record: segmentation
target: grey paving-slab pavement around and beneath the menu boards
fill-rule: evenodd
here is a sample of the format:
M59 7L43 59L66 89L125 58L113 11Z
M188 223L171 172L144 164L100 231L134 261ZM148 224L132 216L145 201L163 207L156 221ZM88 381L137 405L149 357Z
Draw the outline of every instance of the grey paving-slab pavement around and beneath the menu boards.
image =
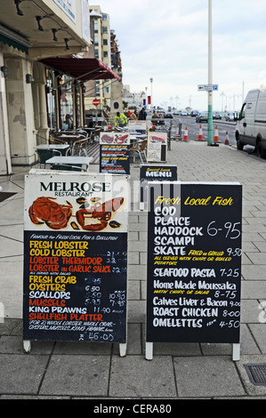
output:
M163 404L177 399L266 399L244 365L266 367L266 161L206 141L172 141L168 164L177 165L179 181L239 181L243 185L243 256L240 360L230 344L155 343L145 358L147 213L129 213L128 337L125 357L118 345L97 342L22 344L22 269L24 174L14 167L0 177L0 399L112 400ZM99 171L99 166L92 171ZM139 164L131 165L131 181ZM144 401L143 401L144 402ZM162 401L159 402L162 404ZM104 411L101 411L104 412ZM133 411L137 412L137 411Z

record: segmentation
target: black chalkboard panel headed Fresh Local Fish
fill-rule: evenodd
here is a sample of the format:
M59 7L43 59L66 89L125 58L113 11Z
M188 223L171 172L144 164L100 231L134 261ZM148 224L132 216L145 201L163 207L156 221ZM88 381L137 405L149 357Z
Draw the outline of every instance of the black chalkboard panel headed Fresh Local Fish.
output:
M149 183L147 342L239 342L242 188Z

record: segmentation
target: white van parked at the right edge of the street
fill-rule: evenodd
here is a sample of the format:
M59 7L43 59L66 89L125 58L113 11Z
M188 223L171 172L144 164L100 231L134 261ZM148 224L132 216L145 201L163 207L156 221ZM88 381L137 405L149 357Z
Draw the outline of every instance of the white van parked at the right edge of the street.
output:
M238 149L253 145L259 157L266 158L266 88L246 95L236 129Z

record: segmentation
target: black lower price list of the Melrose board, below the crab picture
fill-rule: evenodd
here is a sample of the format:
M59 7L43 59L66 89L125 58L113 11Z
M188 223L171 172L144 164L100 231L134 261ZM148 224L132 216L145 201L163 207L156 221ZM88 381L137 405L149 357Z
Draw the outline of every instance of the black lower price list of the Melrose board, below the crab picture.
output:
M126 234L24 234L24 339L125 342Z

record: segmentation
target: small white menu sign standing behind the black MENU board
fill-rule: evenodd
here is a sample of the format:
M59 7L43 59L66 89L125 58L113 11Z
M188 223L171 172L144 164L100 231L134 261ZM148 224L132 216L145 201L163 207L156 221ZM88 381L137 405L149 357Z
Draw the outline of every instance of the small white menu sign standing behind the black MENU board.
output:
M167 159L167 133L149 132L147 159L150 163L165 162Z

